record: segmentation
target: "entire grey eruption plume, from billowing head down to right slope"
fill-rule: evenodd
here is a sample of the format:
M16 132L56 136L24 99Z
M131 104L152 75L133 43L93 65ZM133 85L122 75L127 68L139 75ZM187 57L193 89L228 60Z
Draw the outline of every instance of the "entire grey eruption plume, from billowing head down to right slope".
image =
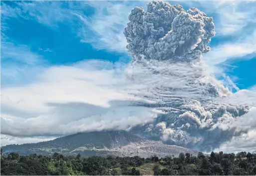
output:
M197 8L186 11L181 5L153 1L147 10L132 9L124 31L132 56L127 76L133 86L128 87L133 95L152 101L140 106L162 113L131 132L206 152L232 140L253 139L255 93L232 93L203 62L214 29L213 17ZM251 142L253 150L256 140Z

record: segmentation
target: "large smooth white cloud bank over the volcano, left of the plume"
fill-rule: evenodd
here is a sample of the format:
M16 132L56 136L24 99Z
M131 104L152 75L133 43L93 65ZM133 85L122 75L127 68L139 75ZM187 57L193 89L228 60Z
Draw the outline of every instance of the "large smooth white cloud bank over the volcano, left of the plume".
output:
M156 118L152 108L120 88L123 77L111 63L90 60L43 70L33 83L1 89L1 133L67 135L127 129Z

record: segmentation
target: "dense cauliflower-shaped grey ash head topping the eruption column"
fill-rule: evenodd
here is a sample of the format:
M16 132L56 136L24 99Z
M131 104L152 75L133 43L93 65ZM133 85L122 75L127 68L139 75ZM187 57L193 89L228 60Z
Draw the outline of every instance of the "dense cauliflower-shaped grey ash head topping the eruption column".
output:
M215 35L213 17L197 8L185 11L181 5L153 1L147 11L135 7L125 28L127 49L133 58L166 60L194 51L210 51Z

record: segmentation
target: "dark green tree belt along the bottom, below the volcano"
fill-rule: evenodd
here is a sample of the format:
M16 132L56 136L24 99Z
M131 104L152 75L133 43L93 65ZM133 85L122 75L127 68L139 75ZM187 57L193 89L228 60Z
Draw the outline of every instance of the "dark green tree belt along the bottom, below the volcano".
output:
M140 157L88 157L81 155L63 156L55 153L51 157L19 156L9 153L2 156L1 175L256 175L256 154L241 152L224 154L223 152L205 156L180 154L158 158Z

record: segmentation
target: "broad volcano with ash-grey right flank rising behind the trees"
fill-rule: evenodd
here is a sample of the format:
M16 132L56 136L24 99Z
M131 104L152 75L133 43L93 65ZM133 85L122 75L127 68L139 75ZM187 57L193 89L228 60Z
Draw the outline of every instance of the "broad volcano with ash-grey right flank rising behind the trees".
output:
M148 140L125 131L101 131L77 133L51 141L35 144L8 145L2 147L3 154L17 152L20 155L52 155L55 152L62 155L82 156L140 156L164 157L178 156L180 153L197 155L198 151L161 142Z

